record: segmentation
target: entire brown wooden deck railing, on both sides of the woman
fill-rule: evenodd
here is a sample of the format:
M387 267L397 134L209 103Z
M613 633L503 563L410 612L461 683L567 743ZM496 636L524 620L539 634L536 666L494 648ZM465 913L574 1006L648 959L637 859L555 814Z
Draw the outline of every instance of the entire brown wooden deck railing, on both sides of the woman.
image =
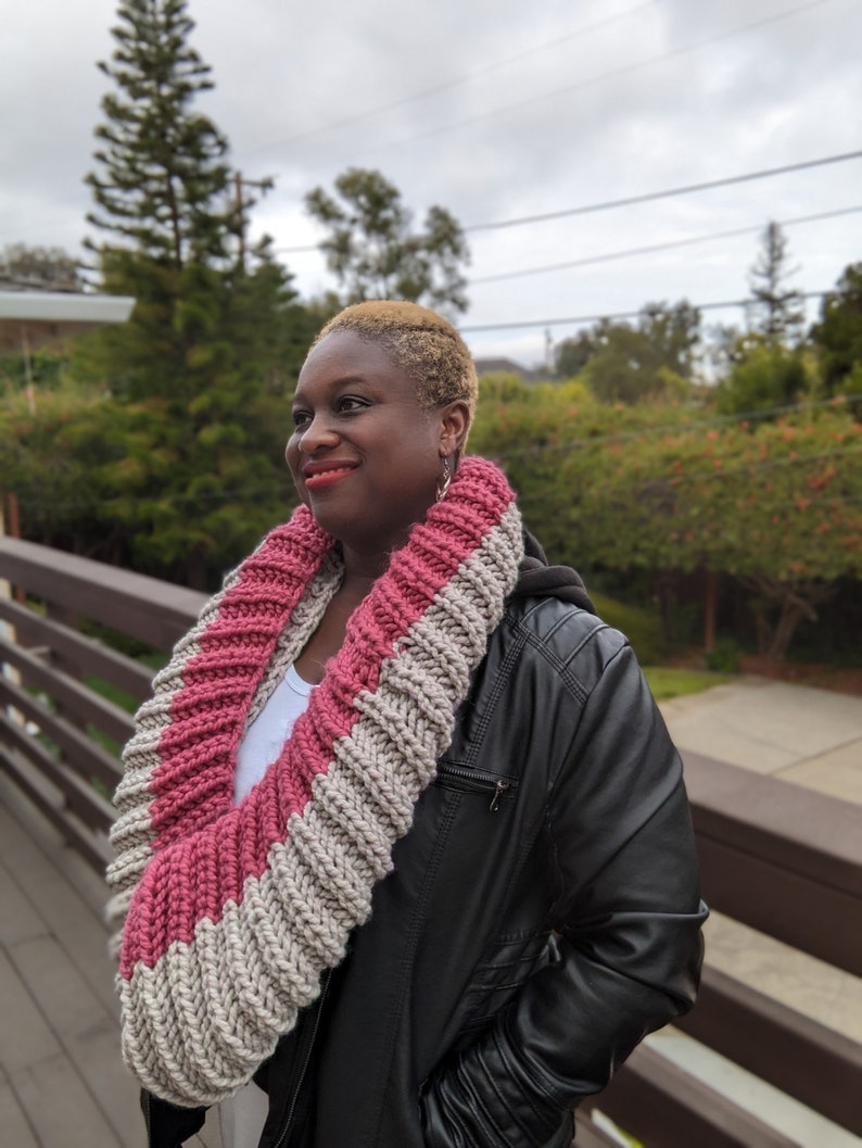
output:
M109 794L129 713L85 682L110 681L135 699L152 672L80 633L94 620L169 651L203 596L154 579L0 538L0 768L100 871L108 859ZM101 737L101 740L100 740ZM704 892L710 906L794 948L862 972L862 810L857 806L685 754ZM794 1100L862 1134L862 1052L832 1029L708 963L698 1004L678 1027ZM645 1148L809 1148L642 1046L584 1106L577 1143L612 1141L589 1119L598 1107Z

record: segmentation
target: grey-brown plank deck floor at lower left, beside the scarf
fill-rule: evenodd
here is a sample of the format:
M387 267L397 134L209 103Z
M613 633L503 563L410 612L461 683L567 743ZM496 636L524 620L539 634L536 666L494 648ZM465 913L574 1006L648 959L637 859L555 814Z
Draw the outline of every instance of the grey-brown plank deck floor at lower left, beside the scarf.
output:
M0 1146L145 1148L99 876L0 776ZM210 1117L196 1148L220 1148Z

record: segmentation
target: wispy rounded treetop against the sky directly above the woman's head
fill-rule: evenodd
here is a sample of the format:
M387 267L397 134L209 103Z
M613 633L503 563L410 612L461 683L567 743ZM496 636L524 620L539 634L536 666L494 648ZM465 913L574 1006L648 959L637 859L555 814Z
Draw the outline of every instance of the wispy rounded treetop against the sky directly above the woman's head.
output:
M335 192L316 187L305 207L328 232L320 248L349 303L405 298L444 311L467 310L467 242L444 208L429 208L424 227L416 230L398 188L365 168L342 172Z

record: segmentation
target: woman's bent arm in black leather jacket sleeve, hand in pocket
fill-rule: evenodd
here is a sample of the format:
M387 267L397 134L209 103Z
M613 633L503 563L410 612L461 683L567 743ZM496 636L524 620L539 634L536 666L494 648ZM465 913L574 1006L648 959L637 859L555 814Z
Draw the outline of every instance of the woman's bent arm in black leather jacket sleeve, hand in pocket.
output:
M693 1002L706 912L681 762L628 646L583 706L549 819L560 960L426 1083L429 1148L546 1143Z

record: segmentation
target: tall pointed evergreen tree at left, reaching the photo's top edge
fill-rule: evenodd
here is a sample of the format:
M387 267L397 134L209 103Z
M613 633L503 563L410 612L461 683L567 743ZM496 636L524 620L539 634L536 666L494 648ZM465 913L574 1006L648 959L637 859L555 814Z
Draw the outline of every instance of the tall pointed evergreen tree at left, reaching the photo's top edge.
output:
M265 242L239 256L249 204L235 204L227 141L196 109L213 85L193 28L185 0L118 8L87 183L103 289L137 304L81 363L122 408L116 428L93 425L127 560L203 587L284 514L284 389L308 324Z

